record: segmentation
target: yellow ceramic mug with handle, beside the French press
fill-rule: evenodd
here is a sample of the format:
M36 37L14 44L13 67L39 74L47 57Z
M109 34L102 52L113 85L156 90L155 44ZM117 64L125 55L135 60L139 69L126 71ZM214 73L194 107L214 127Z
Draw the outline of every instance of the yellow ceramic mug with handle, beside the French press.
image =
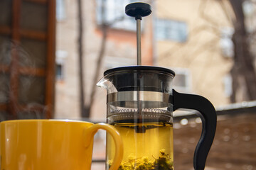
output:
M93 136L109 132L116 145L112 170L122 161L122 140L111 125L73 120L9 120L0 123L1 170L89 170Z

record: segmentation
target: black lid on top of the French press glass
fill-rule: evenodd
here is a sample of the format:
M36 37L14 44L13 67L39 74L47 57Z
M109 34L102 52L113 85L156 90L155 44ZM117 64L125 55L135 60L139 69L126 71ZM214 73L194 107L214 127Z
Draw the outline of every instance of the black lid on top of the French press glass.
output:
M129 66L109 69L105 78L117 91L158 91L169 94L169 84L175 73L171 69L150 66Z

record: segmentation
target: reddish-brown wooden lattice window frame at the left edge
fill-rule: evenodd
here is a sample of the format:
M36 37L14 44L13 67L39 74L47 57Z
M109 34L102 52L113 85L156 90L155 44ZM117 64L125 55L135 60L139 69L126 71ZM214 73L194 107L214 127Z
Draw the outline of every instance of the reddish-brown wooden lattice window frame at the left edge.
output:
M46 30L35 30L33 28L21 28L22 3L31 3L38 6L46 6L48 13L46 16ZM10 75L10 89L8 103L0 103L0 112L6 113L7 119L17 119L18 113L26 114L31 111L40 113L43 118L53 118L54 110L54 83L55 77L55 0L12 0L11 1L11 26L0 26L0 35L11 37L11 41L20 45L22 38L46 42L46 68L41 67L21 67L18 63L18 52L13 48L11 53L11 63L9 65L0 63L0 73ZM31 106L29 103L20 103L19 78L21 76L33 76L45 79L45 99L43 106Z

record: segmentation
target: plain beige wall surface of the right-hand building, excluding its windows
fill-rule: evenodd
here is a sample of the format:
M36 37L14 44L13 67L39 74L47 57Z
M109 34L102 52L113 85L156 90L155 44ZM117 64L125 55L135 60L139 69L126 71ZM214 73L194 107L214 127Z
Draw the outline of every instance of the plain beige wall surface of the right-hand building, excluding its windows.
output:
M157 17L183 21L188 25L186 42L157 42L158 64L188 68L192 94L208 98L215 106L229 103L224 94L223 77L232 66L232 58L220 52L220 29L230 23L218 1L158 0ZM174 78L175 79L175 78Z

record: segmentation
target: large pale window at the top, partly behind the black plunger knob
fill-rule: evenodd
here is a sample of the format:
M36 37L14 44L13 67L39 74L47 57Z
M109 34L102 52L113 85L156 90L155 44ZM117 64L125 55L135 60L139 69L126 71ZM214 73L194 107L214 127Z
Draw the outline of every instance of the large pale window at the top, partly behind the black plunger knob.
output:
M111 28L135 31L135 19L124 13L125 6L133 2L135 2L135 0L97 0L97 24L102 25L102 23L111 23Z

